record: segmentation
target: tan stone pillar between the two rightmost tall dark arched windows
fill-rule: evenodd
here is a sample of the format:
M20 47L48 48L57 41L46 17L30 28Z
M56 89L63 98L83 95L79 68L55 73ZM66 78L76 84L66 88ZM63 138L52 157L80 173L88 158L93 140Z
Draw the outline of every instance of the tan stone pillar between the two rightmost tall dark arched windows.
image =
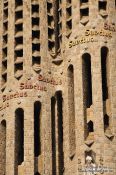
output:
M96 142L96 162L104 154L104 124L103 124L103 100L102 100L102 75L101 75L101 48L99 45L93 47L91 54L92 70L92 95L94 114L94 133ZM97 50L97 51L96 51Z

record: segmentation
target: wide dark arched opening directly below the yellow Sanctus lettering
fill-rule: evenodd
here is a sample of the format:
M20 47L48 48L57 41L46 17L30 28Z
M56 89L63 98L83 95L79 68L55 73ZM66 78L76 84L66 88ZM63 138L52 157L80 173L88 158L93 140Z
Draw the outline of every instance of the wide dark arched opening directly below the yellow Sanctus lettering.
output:
M91 56L86 53L82 56L82 59L84 105L89 108L92 105Z

